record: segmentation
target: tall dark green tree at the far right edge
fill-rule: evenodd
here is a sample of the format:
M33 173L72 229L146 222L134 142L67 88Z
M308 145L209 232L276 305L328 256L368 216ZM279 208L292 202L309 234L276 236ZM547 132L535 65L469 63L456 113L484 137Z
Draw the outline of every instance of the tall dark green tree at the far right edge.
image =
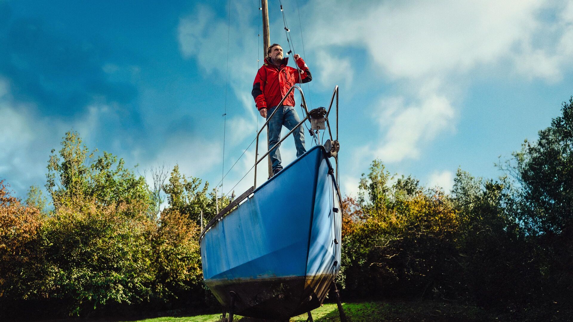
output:
M542 273L539 288L556 303L569 303L573 290L573 97L562 115L513 154L513 173L521 184L520 219L535 240L531 252ZM544 305L551 300L545 299Z

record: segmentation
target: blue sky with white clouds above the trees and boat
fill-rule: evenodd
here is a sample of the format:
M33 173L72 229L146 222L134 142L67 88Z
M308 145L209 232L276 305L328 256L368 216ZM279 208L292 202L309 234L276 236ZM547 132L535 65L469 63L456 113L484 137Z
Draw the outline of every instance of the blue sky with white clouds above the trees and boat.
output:
M445 191L458 168L495 179L494 163L535 140L573 95L571 0L281 1L291 42L278 0L270 40L307 62L309 109L340 87L343 194L356 195L374 159ZM259 7L0 0L0 179L22 198L44 186L50 151L71 130L139 174L179 164L241 194L264 123L250 94L263 59ZM295 158L292 139L281 154L284 165Z

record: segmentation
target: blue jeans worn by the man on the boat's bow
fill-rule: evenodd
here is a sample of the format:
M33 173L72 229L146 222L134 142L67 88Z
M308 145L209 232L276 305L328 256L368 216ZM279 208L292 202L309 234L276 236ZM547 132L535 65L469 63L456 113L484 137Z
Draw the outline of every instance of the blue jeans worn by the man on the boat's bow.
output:
M269 116L274 112L274 109L277 107L272 107L268 111L266 111L266 118L268 119ZM278 107L278 111L273 115L273 118L269 121L269 149L277 144L277 142L281 139L281 129L282 125L285 125L286 128L293 129L297 124L300 123L299 115L296 113L295 108L292 106L281 106ZM307 149L304 147L304 131L303 126L301 125L298 129L295 129L292 132L293 136L295 137L295 146L296 146L296 157L303 155L304 152L307 152ZM279 145L280 146L280 145ZM281 152L278 151L278 146L273 151L270 151L270 162L273 163L273 171L278 169L282 169L281 166Z

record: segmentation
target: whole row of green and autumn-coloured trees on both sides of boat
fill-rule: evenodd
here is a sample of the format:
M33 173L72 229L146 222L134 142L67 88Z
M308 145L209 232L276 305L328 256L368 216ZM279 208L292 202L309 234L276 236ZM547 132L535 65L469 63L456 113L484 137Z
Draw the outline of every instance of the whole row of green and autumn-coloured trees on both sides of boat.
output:
M230 199L178 166L151 190L123 159L89 151L74 132L52 151L49 214L37 187L22 205L0 182L0 319L17 301L13 312L38 301L79 315L209 305L199 217L208 222ZM505 163L515 180L458 170L447 195L374 160L358 199L341 206L344 296L462 301L507 320L562 319L572 311L572 152L573 97ZM169 206L155 220L160 189Z

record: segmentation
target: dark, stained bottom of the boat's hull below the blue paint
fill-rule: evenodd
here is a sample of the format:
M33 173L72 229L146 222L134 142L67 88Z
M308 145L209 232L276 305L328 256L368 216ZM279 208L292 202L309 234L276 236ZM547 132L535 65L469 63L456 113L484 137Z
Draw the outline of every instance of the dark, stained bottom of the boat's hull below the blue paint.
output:
M258 319L288 319L312 311L324 301L332 274L315 276L206 280L219 303L229 307L237 294L235 313Z

